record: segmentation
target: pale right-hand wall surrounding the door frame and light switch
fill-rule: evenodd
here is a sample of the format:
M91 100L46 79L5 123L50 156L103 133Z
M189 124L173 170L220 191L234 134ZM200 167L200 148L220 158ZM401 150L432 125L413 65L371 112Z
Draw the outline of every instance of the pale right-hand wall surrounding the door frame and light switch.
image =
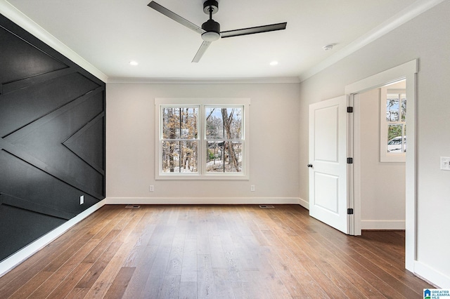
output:
M418 256L415 272L450 287L450 1L444 1L300 84L300 165L307 165L308 106L345 93L345 86L418 58ZM307 167L300 168L300 197L308 198Z

